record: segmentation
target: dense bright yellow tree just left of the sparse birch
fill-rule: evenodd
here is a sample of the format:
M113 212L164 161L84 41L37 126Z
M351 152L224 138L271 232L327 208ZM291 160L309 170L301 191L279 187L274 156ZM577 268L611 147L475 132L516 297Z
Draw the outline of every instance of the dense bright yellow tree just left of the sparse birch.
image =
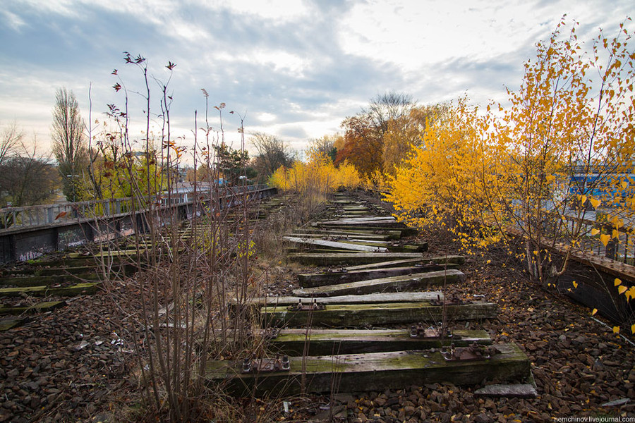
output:
M488 162L483 157L488 154L487 131L482 128L487 124L466 98L447 105L444 118L430 121L421 142L412 145L411 159L388 176L386 199L401 221L447 227L468 251L495 235L483 225L483 185L489 175L482 167Z

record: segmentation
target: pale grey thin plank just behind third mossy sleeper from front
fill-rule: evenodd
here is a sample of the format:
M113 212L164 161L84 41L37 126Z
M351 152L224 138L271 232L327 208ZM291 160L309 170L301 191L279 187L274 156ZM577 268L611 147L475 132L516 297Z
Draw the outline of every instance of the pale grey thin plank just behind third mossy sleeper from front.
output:
M428 291L423 293L380 293L367 295L340 295L338 297L320 298L320 304L373 304L375 302L422 302L444 298L441 291ZM298 301L308 302L307 298L291 296L267 296L248 300L248 304L265 306L278 305L289 306L298 304ZM236 304L232 300L230 304Z

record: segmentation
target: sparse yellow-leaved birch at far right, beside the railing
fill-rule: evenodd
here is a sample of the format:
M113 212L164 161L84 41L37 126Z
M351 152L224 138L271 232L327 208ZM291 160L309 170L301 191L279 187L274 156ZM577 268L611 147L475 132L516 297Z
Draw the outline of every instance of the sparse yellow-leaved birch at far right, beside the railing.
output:
M504 171L486 192L505 204L492 217L521 233L527 269L543 282L564 274L571 255L583 254L583 237L599 233L604 245L619 240L618 229L633 213L626 190L635 152L631 35L624 25L613 38L600 31L587 52L576 25L565 36L564 27L562 21L538 43L521 87L509 91L511 107L492 140ZM588 209L601 204L615 230L590 233ZM555 262L550 250L557 244L565 251Z

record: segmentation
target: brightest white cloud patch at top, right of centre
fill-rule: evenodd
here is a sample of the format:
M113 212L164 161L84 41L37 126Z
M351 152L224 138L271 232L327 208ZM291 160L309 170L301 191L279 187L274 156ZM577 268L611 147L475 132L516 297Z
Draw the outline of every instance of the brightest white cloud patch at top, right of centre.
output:
M624 4L620 5L623 10ZM536 1L370 0L356 4L341 21L339 39L349 54L397 63L405 71L459 57L483 61L548 37L570 6L567 2L541 6ZM570 17L591 23L599 7L605 6L580 1Z

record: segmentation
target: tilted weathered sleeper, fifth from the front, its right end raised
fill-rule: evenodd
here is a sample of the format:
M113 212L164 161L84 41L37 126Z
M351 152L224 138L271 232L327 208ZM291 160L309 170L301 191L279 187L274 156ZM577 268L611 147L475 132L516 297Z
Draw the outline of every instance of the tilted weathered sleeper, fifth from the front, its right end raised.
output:
M336 285L301 288L294 290L298 297L333 297L335 295L358 295L411 290L430 290L444 283L463 281L465 275L456 269L447 271L429 271L425 273L391 276L389 278L370 279Z

